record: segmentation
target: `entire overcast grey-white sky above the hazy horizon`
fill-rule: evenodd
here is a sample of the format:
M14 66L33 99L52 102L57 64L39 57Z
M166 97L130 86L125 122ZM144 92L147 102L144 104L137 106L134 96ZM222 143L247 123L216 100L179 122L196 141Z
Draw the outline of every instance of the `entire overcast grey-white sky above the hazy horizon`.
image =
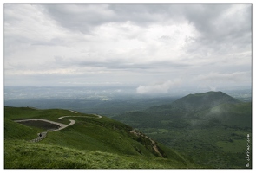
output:
M4 4L5 86L252 84L251 4Z

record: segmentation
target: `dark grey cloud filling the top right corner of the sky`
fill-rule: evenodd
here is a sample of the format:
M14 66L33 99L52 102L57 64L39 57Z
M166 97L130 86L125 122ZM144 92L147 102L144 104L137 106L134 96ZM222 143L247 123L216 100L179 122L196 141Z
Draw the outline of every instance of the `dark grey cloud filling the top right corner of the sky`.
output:
M184 15L200 33L195 39L196 47L188 50L207 48L207 51L230 52L248 47L252 42L252 5L192 5Z

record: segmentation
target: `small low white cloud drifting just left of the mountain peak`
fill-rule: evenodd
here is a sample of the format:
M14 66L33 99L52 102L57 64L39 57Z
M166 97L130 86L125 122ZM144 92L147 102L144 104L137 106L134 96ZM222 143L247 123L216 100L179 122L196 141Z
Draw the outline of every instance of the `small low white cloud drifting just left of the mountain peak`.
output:
M161 84L154 84L153 86L139 86L136 89L137 93L167 93L169 89L178 86L181 80L167 80Z

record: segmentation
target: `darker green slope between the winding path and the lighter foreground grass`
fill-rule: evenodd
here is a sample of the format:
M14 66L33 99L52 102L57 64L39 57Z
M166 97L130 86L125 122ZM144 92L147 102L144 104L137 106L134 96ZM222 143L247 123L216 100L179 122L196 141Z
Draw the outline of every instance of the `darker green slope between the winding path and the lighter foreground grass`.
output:
M46 144L59 144L80 150L99 150L119 154L140 155L135 150L135 147L137 147L144 155L152 155L152 153L145 150L143 145L135 141L133 136L129 135L127 132L128 127L118 130L115 127L115 123L111 126L106 119L76 118L75 120L78 123L62 131L49 133L48 138L45 138L42 142Z

